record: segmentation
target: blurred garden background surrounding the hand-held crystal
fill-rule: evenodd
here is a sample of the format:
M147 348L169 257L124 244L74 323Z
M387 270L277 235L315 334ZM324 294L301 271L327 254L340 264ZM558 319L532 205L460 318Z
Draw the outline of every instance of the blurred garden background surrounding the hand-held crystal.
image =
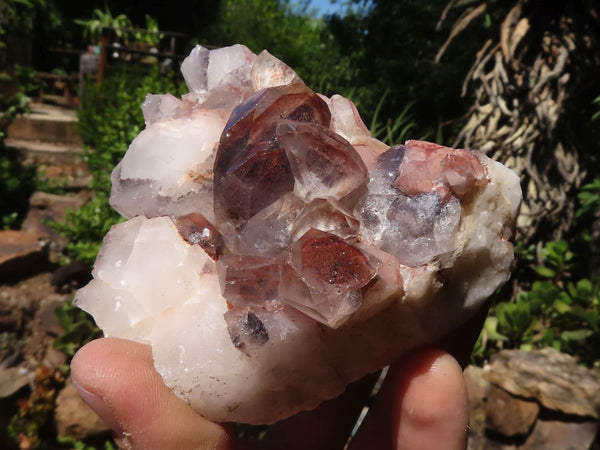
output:
M99 336L72 292L121 220L109 177L145 95L185 92L194 45L241 43L352 99L390 145L479 149L519 174L513 277L466 370L469 446L600 448L599 14L595 0L0 0L0 447L114 448L69 381Z

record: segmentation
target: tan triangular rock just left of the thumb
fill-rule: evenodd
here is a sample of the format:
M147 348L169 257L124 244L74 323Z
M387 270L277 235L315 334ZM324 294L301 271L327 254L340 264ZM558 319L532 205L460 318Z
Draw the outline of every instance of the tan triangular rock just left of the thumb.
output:
M70 379L56 398L54 418L59 436L71 436L80 440L110 431L102 419L81 399Z

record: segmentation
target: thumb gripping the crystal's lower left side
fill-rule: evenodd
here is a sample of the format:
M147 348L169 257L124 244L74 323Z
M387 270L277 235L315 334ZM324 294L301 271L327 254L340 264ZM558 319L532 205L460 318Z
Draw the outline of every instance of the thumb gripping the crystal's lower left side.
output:
M150 347L106 338L71 362L81 397L115 432L122 448L230 450L233 434L173 394L154 370Z

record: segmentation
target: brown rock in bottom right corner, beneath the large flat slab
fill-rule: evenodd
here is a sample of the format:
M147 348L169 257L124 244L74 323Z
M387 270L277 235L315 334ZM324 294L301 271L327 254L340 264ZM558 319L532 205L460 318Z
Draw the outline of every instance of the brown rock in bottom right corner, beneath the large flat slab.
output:
M588 450L598 433L598 421L538 420L519 450Z

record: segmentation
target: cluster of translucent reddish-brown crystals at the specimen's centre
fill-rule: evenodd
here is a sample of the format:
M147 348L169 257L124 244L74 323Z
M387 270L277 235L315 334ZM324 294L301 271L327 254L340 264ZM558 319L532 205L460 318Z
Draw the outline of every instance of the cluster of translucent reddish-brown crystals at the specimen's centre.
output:
M255 93L225 125L214 206L229 250L240 255L218 265L234 307L277 301L333 327L360 307L377 269L353 246L358 220L340 202L365 189L368 173L330 122L327 104L295 84ZM255 312L245 314L228 317L258 323Z

